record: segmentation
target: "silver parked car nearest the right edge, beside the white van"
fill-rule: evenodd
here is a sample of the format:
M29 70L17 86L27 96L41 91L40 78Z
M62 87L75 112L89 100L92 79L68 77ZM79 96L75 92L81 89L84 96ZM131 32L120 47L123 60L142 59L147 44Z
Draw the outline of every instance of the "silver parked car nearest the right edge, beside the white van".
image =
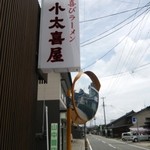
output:
M150 141L150 135L147 134L138 134L138 135L134 135L132 136L132 141L133 142L138 142L138 141Z

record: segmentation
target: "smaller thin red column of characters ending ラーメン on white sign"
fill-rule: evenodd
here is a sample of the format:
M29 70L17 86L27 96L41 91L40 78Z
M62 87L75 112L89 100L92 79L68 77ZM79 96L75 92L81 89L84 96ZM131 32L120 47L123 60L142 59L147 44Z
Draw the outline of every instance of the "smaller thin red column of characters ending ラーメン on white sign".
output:
M70 19L70 26L71 26L71 31L70 31L70 42L72 42L75 39L75 25L74 25L74 20L75 18L75 11L76 11L76 3L75 0L69 0L69 19Z

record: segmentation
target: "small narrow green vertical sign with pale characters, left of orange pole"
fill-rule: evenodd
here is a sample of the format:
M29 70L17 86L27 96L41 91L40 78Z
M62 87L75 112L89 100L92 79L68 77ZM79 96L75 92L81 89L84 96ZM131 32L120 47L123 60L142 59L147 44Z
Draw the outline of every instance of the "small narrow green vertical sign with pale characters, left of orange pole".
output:
M51 124L51 150L57 150L58 145L58 124Z

